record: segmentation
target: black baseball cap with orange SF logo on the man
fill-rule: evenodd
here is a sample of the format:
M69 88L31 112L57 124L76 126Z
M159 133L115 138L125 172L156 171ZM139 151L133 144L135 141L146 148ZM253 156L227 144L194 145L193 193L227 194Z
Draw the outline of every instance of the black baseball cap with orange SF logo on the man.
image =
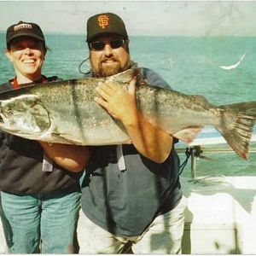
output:
M87 42L90 42L91 39L105 33L114 33L122 38L128 38L125 23L118 15L102 13L91 16L87 20Z

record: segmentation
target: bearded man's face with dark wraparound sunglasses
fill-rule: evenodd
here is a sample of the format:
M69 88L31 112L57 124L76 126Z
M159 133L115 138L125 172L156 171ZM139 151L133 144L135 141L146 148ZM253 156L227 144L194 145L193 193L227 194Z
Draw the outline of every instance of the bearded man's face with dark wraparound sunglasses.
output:
M90 65L96 76L111 76L129 67L128 41L122 39L108 34L96 37L90 42Z

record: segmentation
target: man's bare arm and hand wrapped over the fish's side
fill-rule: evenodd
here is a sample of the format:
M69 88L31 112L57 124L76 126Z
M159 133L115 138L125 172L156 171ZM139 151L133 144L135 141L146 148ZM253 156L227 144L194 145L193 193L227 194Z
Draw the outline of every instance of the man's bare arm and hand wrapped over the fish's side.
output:
M133 79L128 91L112 82L99 84L96 91L101 97L96 97L96 102L125 125L132 143L141 154L155 162L164 162L172 149L172 137L151 125L138 112L135 84L136 80Z

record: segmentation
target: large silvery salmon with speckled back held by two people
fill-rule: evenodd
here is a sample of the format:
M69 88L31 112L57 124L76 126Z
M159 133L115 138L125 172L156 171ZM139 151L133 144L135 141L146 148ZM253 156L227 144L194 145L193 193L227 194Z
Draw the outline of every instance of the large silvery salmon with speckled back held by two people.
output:
M130 69L106 79L127 89L134 73ZM96 86L103 81L72 79L3 92L0 129L49 143L130 143L123 125L94 100ZM256 102L216 107L203 96L160 89L143 81L137 83L137 106L149 122L185 143L191 143L202 127L212 125L237 154L247 159Z

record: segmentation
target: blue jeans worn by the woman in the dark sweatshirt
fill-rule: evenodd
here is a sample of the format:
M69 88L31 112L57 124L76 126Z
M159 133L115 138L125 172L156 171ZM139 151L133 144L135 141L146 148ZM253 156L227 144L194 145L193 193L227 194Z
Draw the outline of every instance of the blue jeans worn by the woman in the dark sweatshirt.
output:
M74 253L80 195L1 192L0 214L9 253Z

